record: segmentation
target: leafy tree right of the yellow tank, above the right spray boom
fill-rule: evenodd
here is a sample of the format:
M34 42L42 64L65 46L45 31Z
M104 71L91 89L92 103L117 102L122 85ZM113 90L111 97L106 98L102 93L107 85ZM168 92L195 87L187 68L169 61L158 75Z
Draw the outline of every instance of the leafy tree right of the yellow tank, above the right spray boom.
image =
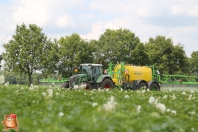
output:
M188 58L181 44L173 45L171 38L157 36L150 38L145 49L152 64L162 73L174 74L188 72Z

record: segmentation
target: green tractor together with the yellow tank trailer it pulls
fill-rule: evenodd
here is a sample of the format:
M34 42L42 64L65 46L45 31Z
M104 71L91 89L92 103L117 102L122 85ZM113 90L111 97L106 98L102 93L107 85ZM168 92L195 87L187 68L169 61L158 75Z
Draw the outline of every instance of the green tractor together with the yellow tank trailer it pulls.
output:
M102 64L81 64L76 69L76 74L68 79L62 85L65 88L98 89L98 88L123 88L150 90L160 90L160 84L157 81L158 75L151 67L109 64L107 70L103 70Z

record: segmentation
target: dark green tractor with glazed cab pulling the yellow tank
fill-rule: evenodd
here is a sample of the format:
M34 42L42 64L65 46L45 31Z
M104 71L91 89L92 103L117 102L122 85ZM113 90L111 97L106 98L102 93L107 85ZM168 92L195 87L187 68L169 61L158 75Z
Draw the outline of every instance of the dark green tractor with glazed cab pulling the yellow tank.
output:
M75 72L76 74L71 76L62 87L74 89L80 86L84 86L85 89L115 87L110 75L104 73L102 64L81 64Z

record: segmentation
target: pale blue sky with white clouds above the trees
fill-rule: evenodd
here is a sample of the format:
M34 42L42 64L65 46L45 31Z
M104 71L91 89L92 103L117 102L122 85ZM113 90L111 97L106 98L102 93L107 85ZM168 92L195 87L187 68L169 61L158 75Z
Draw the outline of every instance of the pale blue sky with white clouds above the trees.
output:
M0 0L0 54L22 23L52 39L98 39L107 28L127 28L141 42L163 35L183 44L189 57L198 51L198 0Z

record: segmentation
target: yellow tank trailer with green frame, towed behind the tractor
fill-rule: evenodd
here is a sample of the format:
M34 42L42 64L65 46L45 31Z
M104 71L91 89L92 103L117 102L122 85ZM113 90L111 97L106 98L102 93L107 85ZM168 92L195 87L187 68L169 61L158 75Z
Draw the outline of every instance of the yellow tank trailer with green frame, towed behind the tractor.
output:
M110 66L109 66L110 67ZM112 65L111 65L112 67ZM112 72L111 72L112 71ZM141 87L152 89L160 89L158 82L152 80L152 69L147 66L117 64L114 68L110 68L109 74L115 86L125 87L129 89L137 89Z

